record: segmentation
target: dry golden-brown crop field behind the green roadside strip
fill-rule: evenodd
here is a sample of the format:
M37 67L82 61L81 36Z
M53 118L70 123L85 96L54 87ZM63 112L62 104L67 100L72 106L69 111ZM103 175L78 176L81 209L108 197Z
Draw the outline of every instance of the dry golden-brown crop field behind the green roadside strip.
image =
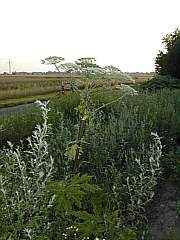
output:
M57 92L60 89L62 79L65 89L69 89L68 82L70 77L57 75L0 75L0 100ZM81 77L75 76L73 79L80 88L83 88L84 83ZM98 86L103 86L106 80L98 78L97 81ZM111 85L119 83L123 82L117 79L111 79ZM132 84L131 81L125 81L124 83Z

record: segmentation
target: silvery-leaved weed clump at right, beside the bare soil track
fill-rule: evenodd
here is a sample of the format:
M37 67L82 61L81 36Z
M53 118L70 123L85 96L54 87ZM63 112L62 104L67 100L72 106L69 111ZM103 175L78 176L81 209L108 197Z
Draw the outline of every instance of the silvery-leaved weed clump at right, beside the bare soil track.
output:
M135 159L132 169L129 169L127 175L116 172L113 185L114 196L118 201L119 185L118 181L123 178L122 186L124 195L126 195L126 214L128 221L133 225L138 225L145 219L145 207L154 196L154 187L161 174L160 158L162 155L162 144L156 133L151 134L153 144L143 159Z

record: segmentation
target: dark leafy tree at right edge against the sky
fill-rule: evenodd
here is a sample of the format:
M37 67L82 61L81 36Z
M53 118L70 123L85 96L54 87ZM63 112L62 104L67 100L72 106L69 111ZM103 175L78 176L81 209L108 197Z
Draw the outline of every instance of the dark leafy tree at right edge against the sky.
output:
M162 43L164 51L159 51L155 59L156 73L180 78L180 29L167 34Z

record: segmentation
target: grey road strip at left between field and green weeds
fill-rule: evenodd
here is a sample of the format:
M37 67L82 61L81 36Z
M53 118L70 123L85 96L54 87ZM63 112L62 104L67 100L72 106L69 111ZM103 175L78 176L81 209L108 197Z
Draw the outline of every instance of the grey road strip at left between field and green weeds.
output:
M34 103L22 104L14 107L0 108L0 117L6 114L20 112L32 108L36 108L36 105Z

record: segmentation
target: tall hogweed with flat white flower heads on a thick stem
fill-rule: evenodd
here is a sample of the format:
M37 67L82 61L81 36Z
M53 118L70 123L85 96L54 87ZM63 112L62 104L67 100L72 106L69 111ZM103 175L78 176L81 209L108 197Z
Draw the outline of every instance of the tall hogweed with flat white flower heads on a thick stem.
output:
M45 63L48 61L48 64L54 64L52 62L52 57L46 58L42 62ZM55 59L57 60L57 59ZM82 153L82 145L84 143L84 135L85 129L90 121L92 116L91 113L91 90L94 88L96 84L96 78L99 75L105 73L105 71L100 68L96 63L94 58L81 58L78 59L75 63L63 63L57 64L55 61L55 67L59 72L63 71L66 73L79 73L82 75L82 79L84 81L85 89L83 91L79 91L78 87L73 85L73 91L75 91L78 95L80 95L80 105L76 108L77 114L79 116L79 130L77 134L77 138L75 141L69 144L68 151L66 152L67 156L71 156L74 161L73 172L79 172L80 167L80 154ZM72 79L71 79L72 80Z

